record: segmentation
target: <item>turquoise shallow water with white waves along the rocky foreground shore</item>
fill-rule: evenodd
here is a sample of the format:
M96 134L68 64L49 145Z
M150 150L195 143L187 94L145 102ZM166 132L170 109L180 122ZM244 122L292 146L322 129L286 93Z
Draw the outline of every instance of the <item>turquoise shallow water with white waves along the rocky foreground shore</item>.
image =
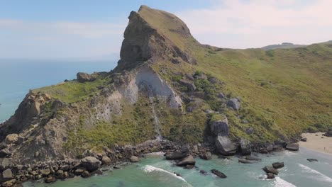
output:
M129 164L122 169L111 169L102 176L92 176L88 179L75 177L52 184L43 182L28 182L24 186L70 186L70 187L319 187L332 186L332 158L326 154L319 154L308 149L299 152L280 152L275 154L258 154L262 162L255 164L241 164L238 159L213 159L206 161L197 159L197 169L182 169L162 156L148 156L139 164ZM319 162L308 162L307 158L319 159ZM272 162L284 162L284 168L275 179L266 180L262 167ZM218 169L226 176L219 179L211 174L203 175L200 169L210 171ZM182 177L173 174L181 174Z

